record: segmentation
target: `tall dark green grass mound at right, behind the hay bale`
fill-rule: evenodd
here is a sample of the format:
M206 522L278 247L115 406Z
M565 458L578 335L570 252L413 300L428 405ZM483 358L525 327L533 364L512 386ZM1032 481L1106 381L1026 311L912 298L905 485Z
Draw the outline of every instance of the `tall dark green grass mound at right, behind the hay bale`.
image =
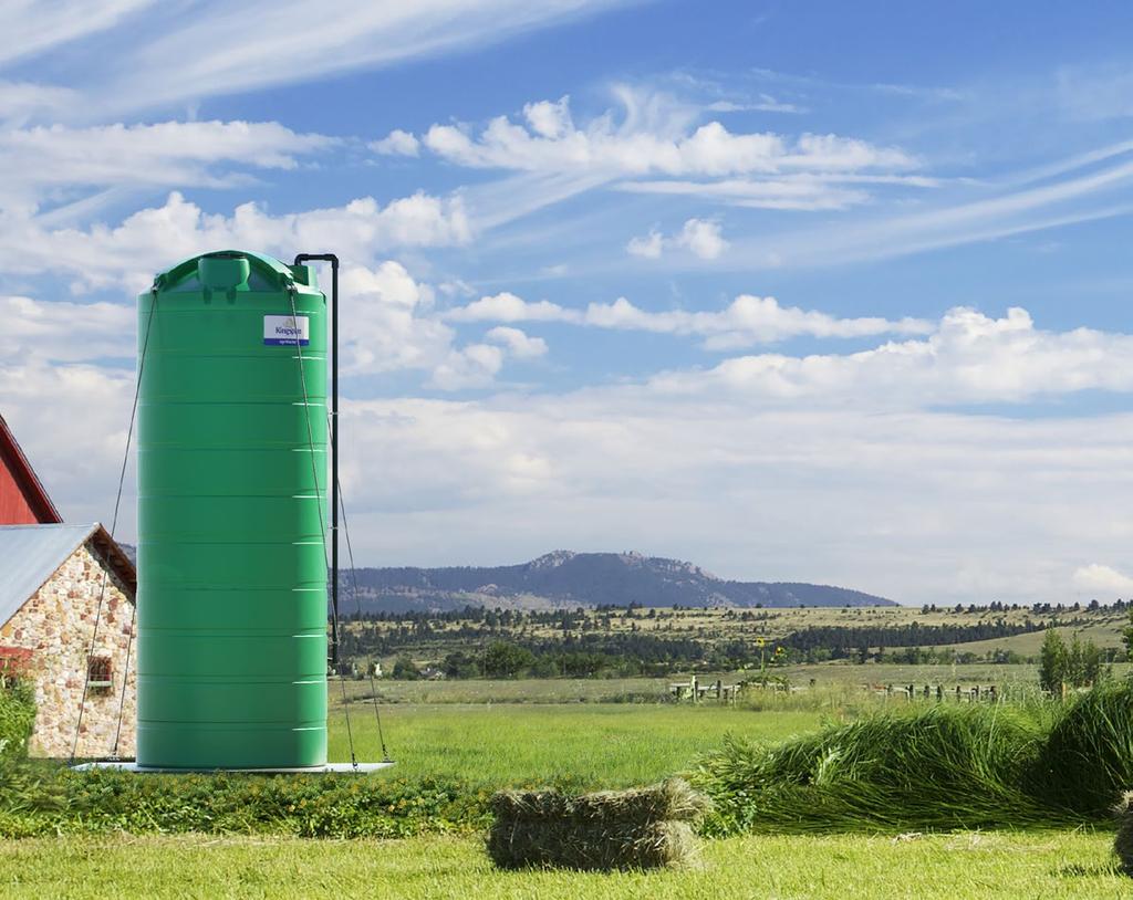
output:
M1099 821L1133 787L1133 686L1065 708L911 706L778 745L729 739L696 783L708 831L909 831Z

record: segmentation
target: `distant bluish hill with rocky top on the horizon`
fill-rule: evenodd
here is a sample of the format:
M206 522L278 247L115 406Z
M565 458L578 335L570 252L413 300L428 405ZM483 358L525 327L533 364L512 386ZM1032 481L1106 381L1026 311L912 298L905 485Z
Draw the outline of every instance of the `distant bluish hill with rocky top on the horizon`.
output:
M843 607L893 600L820 584L724 581L691 563L641 554L554 552L516 566L359 568L364 612L448 610L466 606ZM340 611L356 610L350 573L341 573Z

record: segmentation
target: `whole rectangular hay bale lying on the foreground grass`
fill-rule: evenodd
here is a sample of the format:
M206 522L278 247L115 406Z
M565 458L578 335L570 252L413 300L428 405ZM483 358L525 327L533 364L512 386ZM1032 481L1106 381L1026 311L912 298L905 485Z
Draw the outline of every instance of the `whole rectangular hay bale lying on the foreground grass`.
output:
M657 868L696 858L691 822L707 800L671 779L633 790L572 797L553 790L501 791L487 850L501 868Z

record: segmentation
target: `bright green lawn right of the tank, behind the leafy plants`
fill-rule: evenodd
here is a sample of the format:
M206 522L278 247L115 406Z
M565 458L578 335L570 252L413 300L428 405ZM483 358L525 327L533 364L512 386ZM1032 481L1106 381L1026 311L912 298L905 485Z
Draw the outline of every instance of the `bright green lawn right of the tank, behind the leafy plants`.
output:
M351 704L361 761L382 757L374 711ZM816 728L816 712L759 713L716 705L395 705L382 709L395 774L459 778L491 787L580 789L645 785L689 766L732 732L774 740ZM350 758L341 710L330 757Z

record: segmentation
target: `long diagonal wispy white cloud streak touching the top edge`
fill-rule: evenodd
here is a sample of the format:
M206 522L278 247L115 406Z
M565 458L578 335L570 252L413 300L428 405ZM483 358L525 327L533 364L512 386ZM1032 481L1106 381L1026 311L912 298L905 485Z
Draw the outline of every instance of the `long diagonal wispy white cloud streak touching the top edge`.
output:
M110 110L162 106L310 82L500 43L622 3L338 0L332 15L322 19L312 19L310 5L300 0L238 5L194 0L188 9L184 3L159 5L146 18L146 40L123 32L102 48L112 65L105 65L94 79L92 105ZM31 17L28 24L34 24ZM178 65L171 66L170 60Z

